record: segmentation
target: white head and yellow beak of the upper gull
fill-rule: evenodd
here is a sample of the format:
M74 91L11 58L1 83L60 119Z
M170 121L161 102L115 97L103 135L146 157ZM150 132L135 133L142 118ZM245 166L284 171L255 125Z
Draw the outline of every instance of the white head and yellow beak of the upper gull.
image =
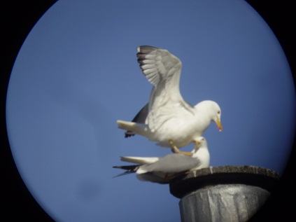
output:
M202 111L206 113L206 116L209 116L213 122L216 123L218 130L221 132L223 130L222 124L221 124L221 109L220 106L211 100L205 100L202 102L199 102L196 107L202 108ZM198 108L198 109L200 109Z

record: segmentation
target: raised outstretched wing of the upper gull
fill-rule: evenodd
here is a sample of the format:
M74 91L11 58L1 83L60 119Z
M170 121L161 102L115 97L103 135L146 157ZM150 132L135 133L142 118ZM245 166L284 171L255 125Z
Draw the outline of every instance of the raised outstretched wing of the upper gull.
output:
M193 106L184 101L179 90L181 61L168 50L151 46L139 46L137 50L143 74L154 85L147 118L150 130L157 130L171 118L192 115Z

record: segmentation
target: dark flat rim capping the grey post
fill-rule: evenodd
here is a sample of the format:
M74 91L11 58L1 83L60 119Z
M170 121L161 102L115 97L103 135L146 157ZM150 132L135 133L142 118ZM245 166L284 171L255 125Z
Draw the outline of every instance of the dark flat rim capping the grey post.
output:
M182 198L187 193L218 184L245 184L272 191L279 181L279 174L262 167L223 166L207 167L178 177L169 183L172 195Z

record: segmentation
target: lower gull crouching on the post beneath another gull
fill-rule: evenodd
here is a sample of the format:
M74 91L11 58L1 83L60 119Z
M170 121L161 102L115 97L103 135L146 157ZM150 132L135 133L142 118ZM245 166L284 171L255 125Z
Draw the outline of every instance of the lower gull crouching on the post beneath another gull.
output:
M122 174L118 174L118 176L136 173L136 177L141 181L169 183L171 179L177 176L209 167L210 153L204 137L198 137L196 139L195 147L191 153L192 156L183 155L181 153L171 153L165 155L163 158L121 157L122 161L133 162L138 165L118 166L113 168L127 170Z

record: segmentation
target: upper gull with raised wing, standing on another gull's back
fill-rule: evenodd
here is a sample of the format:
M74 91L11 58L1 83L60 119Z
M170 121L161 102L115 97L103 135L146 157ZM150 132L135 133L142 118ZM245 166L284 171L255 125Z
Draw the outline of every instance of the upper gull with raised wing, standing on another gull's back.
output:
M185 102L179 90L182 63L168 50L139 46L137 51L140 68L153 89L148 104L132 122L118 120L118 128L126 130L125 137L139 134L175 153L192 155L178 148L194 143L211 121L222 131L220 106L211 100L195 106Z

